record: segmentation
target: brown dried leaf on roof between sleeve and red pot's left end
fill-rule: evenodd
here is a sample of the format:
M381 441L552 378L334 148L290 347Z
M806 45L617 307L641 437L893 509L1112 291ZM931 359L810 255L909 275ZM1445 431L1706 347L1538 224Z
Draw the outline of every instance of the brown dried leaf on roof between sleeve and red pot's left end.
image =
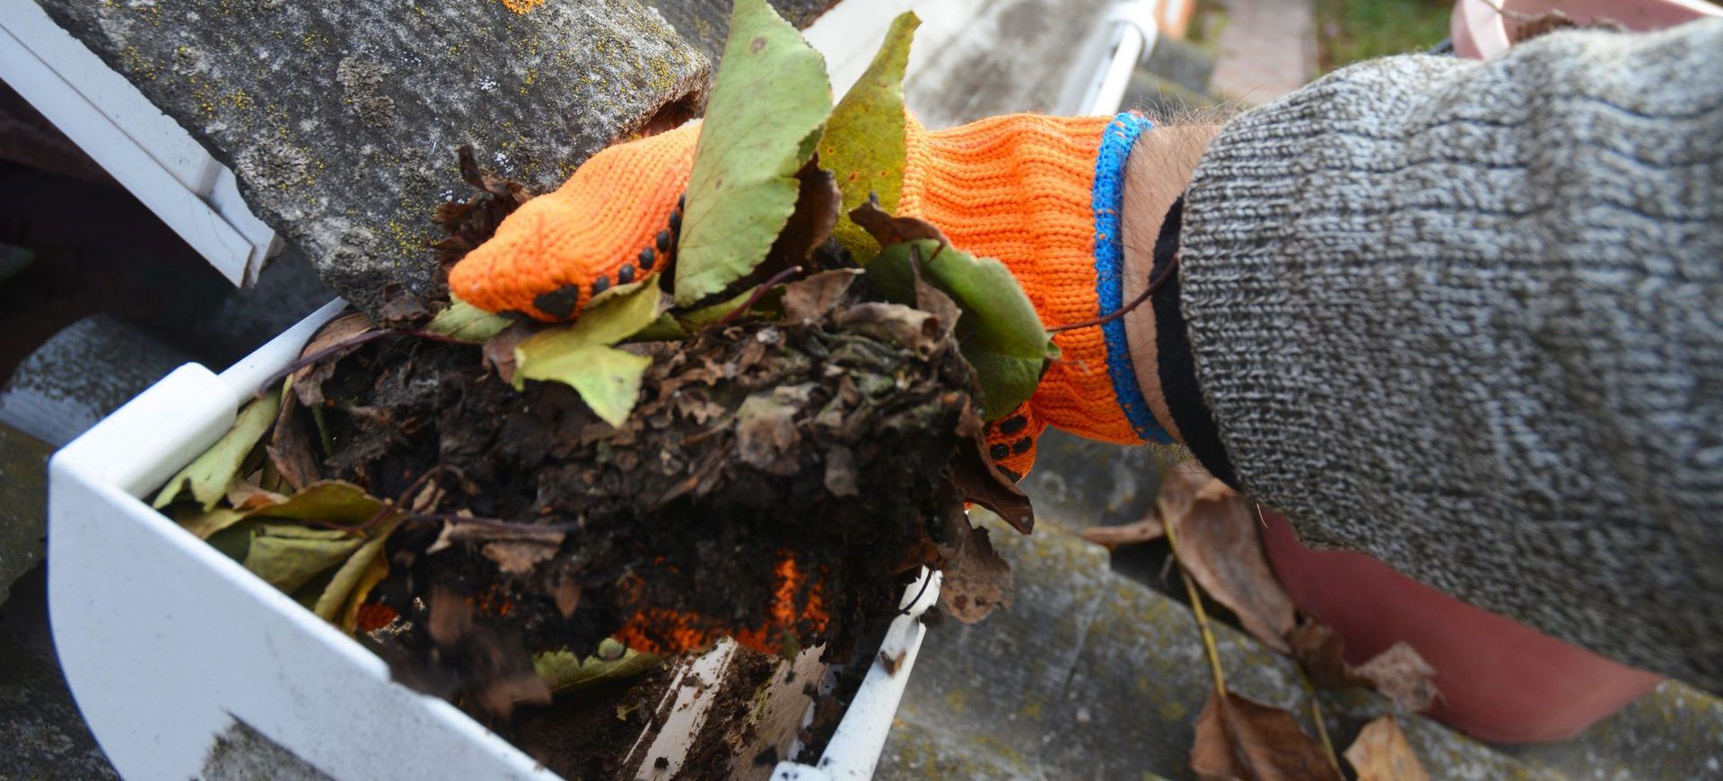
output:
M1175 469L1156 500L1161 519L1179 522L1179 562L1215 602L1239 615L1244 631L1263 645L1289 653L1294 629L1292 598L1280 586L1263 553L1256 505L1230 491L1196 484L1187 469ZM1184 507L1185 512L1179 512Z

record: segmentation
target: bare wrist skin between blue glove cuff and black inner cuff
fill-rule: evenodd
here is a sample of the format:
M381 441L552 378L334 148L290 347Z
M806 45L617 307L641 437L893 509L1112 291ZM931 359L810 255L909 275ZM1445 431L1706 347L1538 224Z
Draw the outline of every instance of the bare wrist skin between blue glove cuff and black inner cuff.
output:
M1154 267L1154 240L1161 233L1161 217L1191 183L1191 172L1203 159L1208 141L1220 131L1218 124L1158 126L1142 134L1125 160L1123 248L1125 248L1125 302L1142 297ZM1160 364L1154 347L1154 310L1148 303L1125 314L1125 340L1130 360L1137 371L1137 384L1156 422L1173 440L1184 443L1179 426L1161 393Z

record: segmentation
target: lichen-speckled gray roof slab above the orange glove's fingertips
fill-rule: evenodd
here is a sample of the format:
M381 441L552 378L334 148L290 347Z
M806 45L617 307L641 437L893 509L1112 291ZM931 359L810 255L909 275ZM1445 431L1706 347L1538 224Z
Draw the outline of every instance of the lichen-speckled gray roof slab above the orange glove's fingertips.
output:
M470 191L457 147L548 190L667 105L698 105L710 67L634 0L40 3L372 312L391 284L432 286L431 214Z

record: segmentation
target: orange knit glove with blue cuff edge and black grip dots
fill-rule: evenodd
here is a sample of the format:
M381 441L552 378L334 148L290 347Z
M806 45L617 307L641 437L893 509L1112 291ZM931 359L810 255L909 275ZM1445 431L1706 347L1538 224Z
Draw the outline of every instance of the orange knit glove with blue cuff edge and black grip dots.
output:
M1013 114L927 131L908 122L898 210L951 243L996 257L1046 326L1120 307L1118 207L1125 155L1149 122ZM700 126L612 147L560 190L529 200L450 272L455 295L488 310L569 319L600 290L643 276L675 252L679 198ZM987 445L1020 479L1046 426L1113 443L1170 441L1149 414L1125 326L1063 331L1063 355L1034 398L992 421Z

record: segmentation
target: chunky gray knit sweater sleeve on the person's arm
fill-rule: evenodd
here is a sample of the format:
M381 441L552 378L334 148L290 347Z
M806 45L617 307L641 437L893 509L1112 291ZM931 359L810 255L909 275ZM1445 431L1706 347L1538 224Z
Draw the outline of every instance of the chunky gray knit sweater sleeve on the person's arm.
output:
M1723 21L1392 57L1232 121L1182 312L1242 488L1723 690Z

